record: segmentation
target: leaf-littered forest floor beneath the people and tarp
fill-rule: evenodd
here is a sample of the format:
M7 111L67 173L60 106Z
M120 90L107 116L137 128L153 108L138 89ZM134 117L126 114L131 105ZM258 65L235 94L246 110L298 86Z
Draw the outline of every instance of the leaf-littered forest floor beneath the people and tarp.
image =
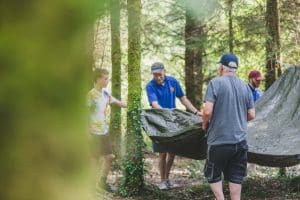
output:
M157 155L145 153L145 190L137 197L121 197L118 192L98 194L97 199L114 200L154 200L154 199L214 199L209 185L203 176L204 161L176 157L170 179L179 185L177 188L161 191L157 170ZM109 183L115 191L121 180L121 172L114 170ZM225 198L229 198L228 184L225 183ZM257 166L255 174L248 175L243 183L242 199L300 199L300 165L287 168L287 176L279 177L278 168Z

